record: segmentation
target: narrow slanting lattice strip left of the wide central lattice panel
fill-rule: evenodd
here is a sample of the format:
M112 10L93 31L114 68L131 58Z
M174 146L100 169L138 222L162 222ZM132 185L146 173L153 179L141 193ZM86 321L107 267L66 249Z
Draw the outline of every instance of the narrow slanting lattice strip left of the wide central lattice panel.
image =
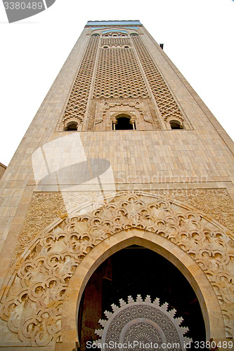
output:
M72 93L67 102L63 121L68 118L79 119L83 121L86 112L86 105L89 98L89 90L93 77L93 68L96 60L99 36L91 37L89 45L86 48L82 65L74 82Z

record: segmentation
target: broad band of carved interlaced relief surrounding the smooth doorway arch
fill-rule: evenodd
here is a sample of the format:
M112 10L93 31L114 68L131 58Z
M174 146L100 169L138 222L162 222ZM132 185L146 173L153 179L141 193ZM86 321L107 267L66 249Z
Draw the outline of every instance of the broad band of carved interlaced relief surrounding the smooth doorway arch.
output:
M79 199L79 194L72 192L72 196ZM61 333L63 296L76 267L101 241L133 227L167 238L200 265L219 299L226 336L232 336L234 242L226 228L187 204L150 193L119 192L98 208L87 204L89 211L84 214L77 206L68 217L60 213L61 201L58 193L50 199L45 193L34 197L31 217L26 219L27 236L20 237L20 252L28 246L9 273L11 279L1 301L1 319L7 322L8 329L18 333L20 340L31 345L48 345L57 340ZM58 213L50 217L49 209L56 208L56 204ZM212 212L213 208L210 209ZM55 216L58 220L48 225ZM41 232L38 229L39 234L34 231L31 235L30 228L37 225Z

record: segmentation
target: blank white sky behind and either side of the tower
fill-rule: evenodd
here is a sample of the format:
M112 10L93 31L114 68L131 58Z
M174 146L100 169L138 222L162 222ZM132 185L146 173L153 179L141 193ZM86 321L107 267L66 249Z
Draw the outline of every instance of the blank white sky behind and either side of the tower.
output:
M140 20L234 139L233 0L56 0L11 24L0 0L1 163L11 161L87 20Z

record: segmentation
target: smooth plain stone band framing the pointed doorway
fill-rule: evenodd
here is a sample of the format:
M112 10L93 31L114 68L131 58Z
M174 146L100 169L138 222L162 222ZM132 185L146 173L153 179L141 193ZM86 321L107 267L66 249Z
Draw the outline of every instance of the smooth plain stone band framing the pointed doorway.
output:
M113 253L133 244L155 251L176 265L188 279L188 282L190 282L200 302L207 340L209 338L214 338L214 340L225 338L225 328L219 301L206 275L193 258L163 237L155 236L154 233L147 230L130 228L100 242L98 246L86 255L74 272L67 286L63 303L62 340L64 347L67 347L69 344L72 347L72 343L74 345L74 341L78 341L77 318L79 303L84 288L93 272ZM62 347L61 350L65 350L65 348L63 349Z

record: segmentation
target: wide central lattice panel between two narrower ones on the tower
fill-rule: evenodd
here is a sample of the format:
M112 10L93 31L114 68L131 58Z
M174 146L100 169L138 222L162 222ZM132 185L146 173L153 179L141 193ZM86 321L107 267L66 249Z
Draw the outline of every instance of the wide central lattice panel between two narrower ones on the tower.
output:
M115 39L125 40L125 39ZM147 88L131 48L101 48L94 98L146 98Z

